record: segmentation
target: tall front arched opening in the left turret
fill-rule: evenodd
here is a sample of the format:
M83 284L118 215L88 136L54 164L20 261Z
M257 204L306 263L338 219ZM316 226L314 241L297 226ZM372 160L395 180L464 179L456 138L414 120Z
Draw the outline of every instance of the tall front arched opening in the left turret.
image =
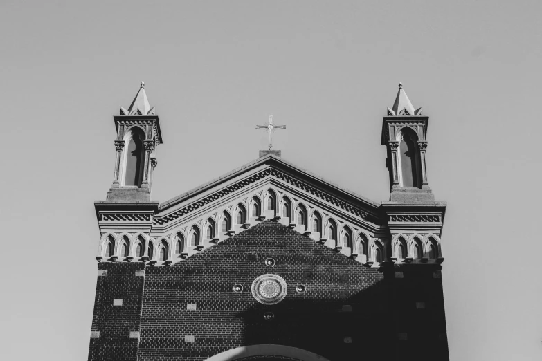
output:
M141 187L143 169L145 168L145 147L143 147L145 134L139 127L132 127L125 136L123 155L123 185Z

